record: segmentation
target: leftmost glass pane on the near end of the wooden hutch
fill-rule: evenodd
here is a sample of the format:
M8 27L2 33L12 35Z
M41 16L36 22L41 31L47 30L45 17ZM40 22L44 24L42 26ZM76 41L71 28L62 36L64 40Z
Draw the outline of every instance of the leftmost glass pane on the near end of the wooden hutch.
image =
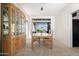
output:
M9 25L8 25L8 7L3 7L3 35L9 34Z

